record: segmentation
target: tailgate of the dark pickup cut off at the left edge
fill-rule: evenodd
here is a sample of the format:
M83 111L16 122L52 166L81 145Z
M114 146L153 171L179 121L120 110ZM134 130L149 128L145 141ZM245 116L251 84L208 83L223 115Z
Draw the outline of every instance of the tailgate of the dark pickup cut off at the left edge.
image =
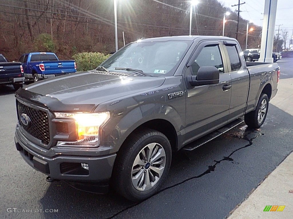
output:
M20 62L0 62L0 79L23 77Z

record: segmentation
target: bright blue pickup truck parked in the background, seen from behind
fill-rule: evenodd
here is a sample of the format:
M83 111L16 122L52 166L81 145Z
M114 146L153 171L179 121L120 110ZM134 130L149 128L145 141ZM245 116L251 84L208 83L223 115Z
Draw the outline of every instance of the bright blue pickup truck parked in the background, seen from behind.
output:
M24 70L26 80L52 78L59 75L76 72L74 60L59 60L55 53L28 53L19 59Z

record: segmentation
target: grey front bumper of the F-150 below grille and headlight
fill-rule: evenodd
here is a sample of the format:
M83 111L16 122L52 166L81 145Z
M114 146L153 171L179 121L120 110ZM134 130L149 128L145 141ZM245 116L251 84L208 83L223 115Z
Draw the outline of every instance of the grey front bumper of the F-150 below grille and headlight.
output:
M52 157L46 157L37 152L40 147L16 131L14 137L16 149L23 159L34 169L45 173L51 178L69 182L96 183L107 182L111 178L116 154L104 156L76 156L65 155L62 152L55 153ZM45 151L46 149L42 149ZM49 151L52 151L52 148ZM66 149L64 148L64 151ZM86 150L84 148L80 149ZM48 153L50 154L50 153ZM88 170L81 168L81 163L88 164Z

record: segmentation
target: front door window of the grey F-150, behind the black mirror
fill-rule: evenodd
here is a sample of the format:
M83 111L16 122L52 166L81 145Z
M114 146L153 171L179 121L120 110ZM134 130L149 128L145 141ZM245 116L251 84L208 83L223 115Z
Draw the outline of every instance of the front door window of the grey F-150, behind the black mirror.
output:
M191 65L192 74L197 75L200 67L216 67L224 72L224 65L218 45L205 46Z

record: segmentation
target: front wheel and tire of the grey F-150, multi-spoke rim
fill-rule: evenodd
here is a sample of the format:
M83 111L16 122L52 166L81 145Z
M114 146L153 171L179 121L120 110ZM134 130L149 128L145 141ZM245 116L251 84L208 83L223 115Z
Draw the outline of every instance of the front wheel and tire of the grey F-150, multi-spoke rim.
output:
M115 161L112 184L131 201L151 197L171 165L171 145L163 133L144 129L133 133L122 145Z

